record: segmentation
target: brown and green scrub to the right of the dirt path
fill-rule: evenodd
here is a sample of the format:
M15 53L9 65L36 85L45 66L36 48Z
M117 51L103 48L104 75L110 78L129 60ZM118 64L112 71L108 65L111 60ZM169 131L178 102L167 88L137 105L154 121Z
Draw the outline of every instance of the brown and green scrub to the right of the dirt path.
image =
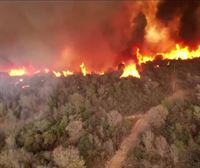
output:
M124 167L200 167L198 94L191 92L182 101L162 101L169 110L165 122L144 131L139 144L130 149Z

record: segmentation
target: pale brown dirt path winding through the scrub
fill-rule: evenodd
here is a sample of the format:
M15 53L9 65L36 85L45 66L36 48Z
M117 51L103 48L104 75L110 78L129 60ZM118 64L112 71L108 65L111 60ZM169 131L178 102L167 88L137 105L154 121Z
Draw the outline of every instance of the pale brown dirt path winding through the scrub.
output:
M175 99L185 99L186 91L177 91L172 96L169 96L167 99L175 100ZM106 162L106 168L122 168L123 161L126 159L128 151L130 148L133 148L137 145L139 134L144 132L147 128L150 127L150 124L155 122L157 117L161 117L164 114L164 107L162 105L158 105L152 107L146 113L127 116L126 119L137 120L133 125L130 134L124 138L119 149L116 151L114 156Z

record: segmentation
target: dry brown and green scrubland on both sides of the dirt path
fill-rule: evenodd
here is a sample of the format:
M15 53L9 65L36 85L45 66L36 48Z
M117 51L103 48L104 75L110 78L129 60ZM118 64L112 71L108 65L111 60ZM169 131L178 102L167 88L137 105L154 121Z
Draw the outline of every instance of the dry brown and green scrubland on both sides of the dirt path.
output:
M67 78L36 74L22 82L18 77L0 78L0 167L102 168L134 124L127 116L161 100L167 117L153 117L152 128L130 149L127 165L198 167L199 85L195 98L170 102L166 97L173 90L167 81L173 66L154 64L144 65L141 79L120 79L117 71ZM199 72L194 64L187 64L191 73ZM177 68L175 75L182 88L190 89L198 81L187 77L184 68Z

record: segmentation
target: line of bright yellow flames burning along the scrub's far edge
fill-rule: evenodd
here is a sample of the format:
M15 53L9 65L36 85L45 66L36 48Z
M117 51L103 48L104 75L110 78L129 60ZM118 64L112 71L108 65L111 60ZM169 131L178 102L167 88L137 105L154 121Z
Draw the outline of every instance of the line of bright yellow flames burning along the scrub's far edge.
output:
M200 58L200 45L197 47L196 50L190 50L189 47L181 47L179 44L176 44L175 49L169 51L169 52L161 52L161 53L156 53L155 56L153 55L145 55L141 54L139 48L136 49L136 60L137 62L132 62L132 63L126 63L123 73L120 76L120 78L123 77L136 77L140 78L140 73L138 71L138 67L141 66L141 64L144 64L149 61L154 61L156 57L159 55L162 59L168 59L168 60L186 60L186 59L194 59L194 58ZM170 62L168 62L170 64ZM159 68L159 65L156 66L156 68ZM80 70L83 76L86 76L89 72L85 66L85 64L82 62L80 64ZM104 72L98 72L98 71L93 71L96 74L102 75ZM24 76L24 75L31 75L31 74L38 74L38 73L52 73L56 77L67 77L69 75L73 75L75 72L70 71L70 70L62 70L62 71L57 71L57 70L51 70L51 69L39 69L39 70L33 70L33 69L27 69L27 68L14 68L8 71L8 74L10 76Z

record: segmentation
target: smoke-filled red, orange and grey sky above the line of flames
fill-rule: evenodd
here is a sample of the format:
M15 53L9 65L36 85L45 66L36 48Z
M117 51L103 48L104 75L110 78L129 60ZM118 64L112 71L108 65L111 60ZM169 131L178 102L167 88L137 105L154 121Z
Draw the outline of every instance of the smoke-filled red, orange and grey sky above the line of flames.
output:
M168 41L197 42L199 4L189 0L0 2L0 66L70 69L84 61L96 69L109 68L134 45L154 49L161 45L154 29L164 35L167 31ZM177 24L172 24L174 20Z

